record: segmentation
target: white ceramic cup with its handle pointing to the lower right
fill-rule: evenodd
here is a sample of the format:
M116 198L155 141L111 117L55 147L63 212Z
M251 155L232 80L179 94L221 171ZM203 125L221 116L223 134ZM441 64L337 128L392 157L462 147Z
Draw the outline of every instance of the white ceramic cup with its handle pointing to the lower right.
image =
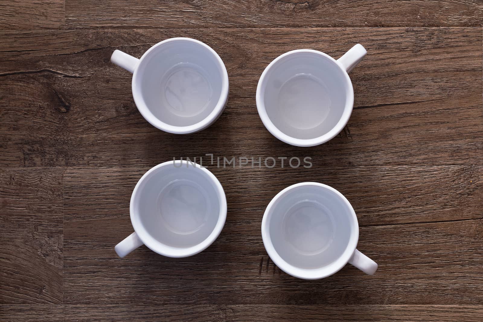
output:
M279 192L262 219L262 238L273 263L300 279L322 279L350 263L366 274L377 264L355 249L354 209L328 185L302 182Z

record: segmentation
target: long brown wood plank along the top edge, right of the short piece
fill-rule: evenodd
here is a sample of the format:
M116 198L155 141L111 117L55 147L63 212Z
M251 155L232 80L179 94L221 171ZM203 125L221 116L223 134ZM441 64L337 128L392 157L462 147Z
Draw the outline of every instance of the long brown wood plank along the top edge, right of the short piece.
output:
M70 28L439 27L482 22L478 0L66 0Z

